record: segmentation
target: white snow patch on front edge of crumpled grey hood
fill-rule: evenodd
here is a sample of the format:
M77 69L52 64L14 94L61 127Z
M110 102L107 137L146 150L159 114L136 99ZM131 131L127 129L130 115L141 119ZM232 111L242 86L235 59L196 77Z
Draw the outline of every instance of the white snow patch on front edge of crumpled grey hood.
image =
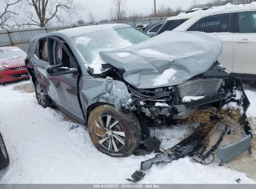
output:
M158 86L158 85L164 85L169 83L169 80L175 80L175 73L177 73L176 70L174 70L173 68L169 68L168 70L164 70L164 72L157 76L156 78L154 78L152 81L154 82L154 86Z

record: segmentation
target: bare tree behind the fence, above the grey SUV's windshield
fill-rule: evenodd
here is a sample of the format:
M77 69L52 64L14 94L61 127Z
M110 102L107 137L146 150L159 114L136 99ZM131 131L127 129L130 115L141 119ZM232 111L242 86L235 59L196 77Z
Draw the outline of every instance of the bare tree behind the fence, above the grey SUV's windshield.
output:
M113 7L110 9L111 19L115 21L122 21L126 16L125 0L113 0Z

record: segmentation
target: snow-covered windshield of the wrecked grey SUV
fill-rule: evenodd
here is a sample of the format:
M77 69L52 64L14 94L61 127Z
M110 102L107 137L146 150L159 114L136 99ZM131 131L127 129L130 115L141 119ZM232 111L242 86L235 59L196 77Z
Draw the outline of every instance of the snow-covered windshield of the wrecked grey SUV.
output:
M79 35L73 37L72 40L83 60L87 63L92 63L93 60L97 60L101 51L129 47L149 38L148 35L139 30L131 27L122 27Z

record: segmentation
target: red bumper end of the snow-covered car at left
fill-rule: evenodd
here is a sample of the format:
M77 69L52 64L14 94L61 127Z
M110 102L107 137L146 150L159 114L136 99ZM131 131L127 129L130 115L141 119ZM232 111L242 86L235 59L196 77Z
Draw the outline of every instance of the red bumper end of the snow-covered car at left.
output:
M27 69L22 70L6 70L0 71L0 83L6 83L10 81L24 80L29 78Z

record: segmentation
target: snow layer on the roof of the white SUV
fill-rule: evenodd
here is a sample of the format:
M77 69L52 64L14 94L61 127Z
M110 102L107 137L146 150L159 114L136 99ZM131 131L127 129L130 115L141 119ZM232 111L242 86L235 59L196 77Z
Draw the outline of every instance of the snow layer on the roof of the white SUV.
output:
M237 11L250 11L256 10L256 2L250 4L225 4L224 6L211 7L210 9L198 9L192 12L181 12L178 16L169 17L167 21L178 20L178 19L190 19L194 16L206 16L209 14L219 14L225 12L237 12Z

